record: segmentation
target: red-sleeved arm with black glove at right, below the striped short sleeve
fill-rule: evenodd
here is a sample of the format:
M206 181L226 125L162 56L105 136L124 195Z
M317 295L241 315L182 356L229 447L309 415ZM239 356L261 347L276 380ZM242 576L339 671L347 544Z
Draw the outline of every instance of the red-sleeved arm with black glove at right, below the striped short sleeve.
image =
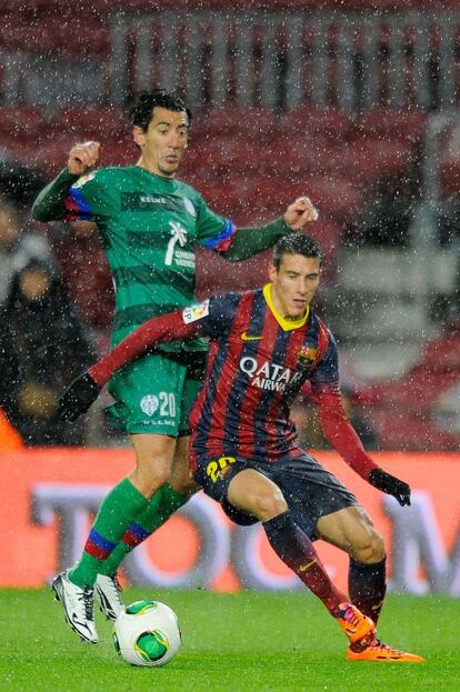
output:
M409 485L380 469L366 453L361 440L343 410L340 393L317 393L316 403L321 428L328 442L353 471L378 490L396 498L401 507L410 504Z

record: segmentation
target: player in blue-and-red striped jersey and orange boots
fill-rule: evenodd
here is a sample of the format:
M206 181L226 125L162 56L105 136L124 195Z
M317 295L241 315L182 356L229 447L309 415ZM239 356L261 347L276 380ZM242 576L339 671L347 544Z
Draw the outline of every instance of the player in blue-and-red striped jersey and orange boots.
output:
M386 593L382 538L354 495L299 447L289 419L310 380L332 445L363 479L410 504L409 485L368 457L344 414L336 342L310 307L321 275L318 245L300 233L281 239L269 274L261 290L149 320L74 381L61 413L74 420L113 372L147 348L208 337L206 380L190 417L197 485L237 523L262 522L277 554L342 626L349 660L420 662L377 639ZM351 602L324 571L316 539L349 554Z

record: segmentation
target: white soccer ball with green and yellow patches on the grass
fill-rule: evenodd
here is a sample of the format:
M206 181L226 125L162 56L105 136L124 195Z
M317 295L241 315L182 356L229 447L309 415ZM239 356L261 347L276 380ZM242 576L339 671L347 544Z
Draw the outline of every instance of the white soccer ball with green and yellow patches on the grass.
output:
M131 665L164 665L182 643L178 618L159 601L136 601L117 618L113 643Z

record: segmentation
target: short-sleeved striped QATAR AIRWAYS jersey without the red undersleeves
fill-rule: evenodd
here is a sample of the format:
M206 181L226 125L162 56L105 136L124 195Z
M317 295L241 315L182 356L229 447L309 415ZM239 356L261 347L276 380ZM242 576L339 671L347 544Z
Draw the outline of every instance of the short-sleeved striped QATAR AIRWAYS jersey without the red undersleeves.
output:
M299 455L293 399L307 379L314 392L339 390L330 331L312 310L297 322L283 319L270 290L212 298L198 320L211 344L190 417L192 467L201 454L266 462Z

